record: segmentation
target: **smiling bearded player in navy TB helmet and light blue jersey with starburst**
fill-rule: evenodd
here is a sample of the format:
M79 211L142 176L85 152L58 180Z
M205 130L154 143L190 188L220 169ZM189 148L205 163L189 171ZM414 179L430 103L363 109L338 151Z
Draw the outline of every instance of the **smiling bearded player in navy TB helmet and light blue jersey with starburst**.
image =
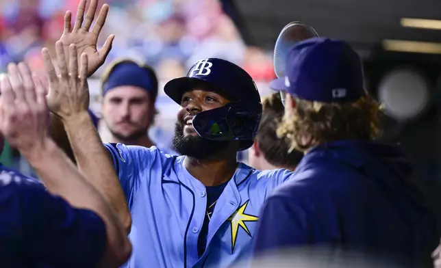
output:
M60 42L56 47L58 62L66 62ZM229 267L251 256L261 205L292 172L236 162L237 152L253 144L262 116L247 72L223 59L201 59L187 77L166 83L164 92L181 106L177 157L154 146L103 146L86 113L86 85L68 83L62 66L59 81L43 52L57 89L49 97L52 110L64 122L77 163L129 232L134 252L127 267Z

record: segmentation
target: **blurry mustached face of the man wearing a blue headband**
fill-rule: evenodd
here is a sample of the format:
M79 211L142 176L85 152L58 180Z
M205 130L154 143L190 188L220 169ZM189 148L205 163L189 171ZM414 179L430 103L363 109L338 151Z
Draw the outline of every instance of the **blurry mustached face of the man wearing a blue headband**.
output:
M117 139L134 141L147 135L155 107L146 90L123 85L109 90L103 98L103 120Z

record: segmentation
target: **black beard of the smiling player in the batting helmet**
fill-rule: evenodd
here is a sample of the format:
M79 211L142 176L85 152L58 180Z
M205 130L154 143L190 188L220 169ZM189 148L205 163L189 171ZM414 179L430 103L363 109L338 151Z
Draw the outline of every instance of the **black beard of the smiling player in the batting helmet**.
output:
M175 135L173 135L172 148L179 155L186 155L195 159L207 159L212 155L226 150L229 141L212 141L199 135L184 137L184 126L176 122Z

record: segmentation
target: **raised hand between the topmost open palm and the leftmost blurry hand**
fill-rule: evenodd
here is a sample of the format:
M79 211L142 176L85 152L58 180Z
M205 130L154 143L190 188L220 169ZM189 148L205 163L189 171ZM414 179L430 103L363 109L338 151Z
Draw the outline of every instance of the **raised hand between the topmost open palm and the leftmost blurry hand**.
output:
M68 50L69 64L63 51L62 42L55 44L57 53L58 70L57 75L49 51L42 49L43 64L49 78L49 95L47 103L49 109L66 120L81 112L88 113L89 88L87 82L88 54L83 53L81 57L81 68L78 66L78 51L75 44L71 44Z

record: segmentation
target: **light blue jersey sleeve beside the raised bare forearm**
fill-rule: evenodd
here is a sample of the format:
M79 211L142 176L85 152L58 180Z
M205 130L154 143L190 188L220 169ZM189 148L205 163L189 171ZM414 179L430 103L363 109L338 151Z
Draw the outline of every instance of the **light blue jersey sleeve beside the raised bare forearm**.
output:
M127 203L131 208L140 180L149 179L143 176L143 174L146 174L143 171L151 168L157 149L110 143L105 143L104 146L112 155L116 174L118 174ZM143 177L141 178L141 176Z

